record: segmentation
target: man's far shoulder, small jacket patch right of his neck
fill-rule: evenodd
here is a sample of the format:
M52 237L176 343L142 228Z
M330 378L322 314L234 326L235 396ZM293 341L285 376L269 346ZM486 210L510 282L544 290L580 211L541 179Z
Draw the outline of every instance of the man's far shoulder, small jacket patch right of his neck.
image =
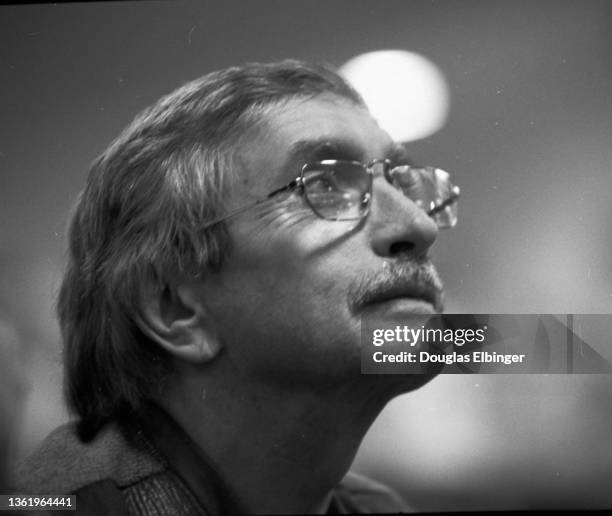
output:
M334 495L340 514L414 511L414 508L390 487L353 471L349 471L342 479Z

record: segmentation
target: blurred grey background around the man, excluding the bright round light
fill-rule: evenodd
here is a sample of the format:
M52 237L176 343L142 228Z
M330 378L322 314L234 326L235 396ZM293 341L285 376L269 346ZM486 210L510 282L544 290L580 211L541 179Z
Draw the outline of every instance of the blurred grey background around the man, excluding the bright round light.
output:
M9 463L69 417L54 301L68 214L93 158L138 111L206 72L284 57L342 66L387 49L423 56L447 85L441 127L410 143L415 162L449 170L462 188L459 225L434 250L447 311L612 314L612 2L4 6ZM610 508L610 400L607 375L443 375L388 406L355 468L423 511Z

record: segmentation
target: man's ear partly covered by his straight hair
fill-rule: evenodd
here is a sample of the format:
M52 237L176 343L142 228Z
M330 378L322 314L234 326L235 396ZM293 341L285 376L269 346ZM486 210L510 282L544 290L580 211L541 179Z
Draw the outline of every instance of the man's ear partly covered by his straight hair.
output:
M166 284L141 297L137 324L141 331L177 358L205 363L221 351L216 328L196 284Z

